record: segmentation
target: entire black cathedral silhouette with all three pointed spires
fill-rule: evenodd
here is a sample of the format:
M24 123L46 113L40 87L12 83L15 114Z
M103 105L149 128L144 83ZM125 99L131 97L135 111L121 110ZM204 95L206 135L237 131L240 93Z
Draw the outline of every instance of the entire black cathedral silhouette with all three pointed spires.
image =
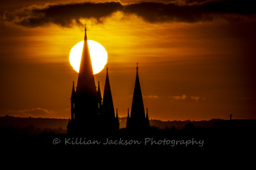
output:
M85 27L83 52L76 89L74 88L74 81L72 86L72 95L70 98L71 119L68 121L68 134L115 132L119 130L119 119L117 112L115 114L114 110L109 83L109 69L106 67L106 81L102 98L100 82L98 82L97 90L94 80L86 31L87 29ZM145 130L149 129L149 127L150 122L148 114L145 116L137 65L132 108L130 115L128 109L126 129Z

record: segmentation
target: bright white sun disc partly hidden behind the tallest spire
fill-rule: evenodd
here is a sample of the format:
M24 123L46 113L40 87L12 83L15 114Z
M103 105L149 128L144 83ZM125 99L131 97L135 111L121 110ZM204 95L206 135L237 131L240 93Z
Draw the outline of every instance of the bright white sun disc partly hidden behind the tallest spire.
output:
M93 40L87 41L91 56L92 69L94 71L94 74L96 74L102 71L102 69L104 69L104 66L106 65L106 61L108 58L108 54L105 48L98 42ZM73 69L78 73L81 62L81 55L83 51L83 42L84 41L80 41L70 51L70 65L72 65Z

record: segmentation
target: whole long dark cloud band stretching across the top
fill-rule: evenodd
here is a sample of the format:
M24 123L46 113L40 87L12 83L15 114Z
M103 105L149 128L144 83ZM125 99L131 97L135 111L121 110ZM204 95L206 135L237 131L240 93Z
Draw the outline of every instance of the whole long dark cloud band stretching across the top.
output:
M24 27L40 27L57 24L72 27L82 24L79 19L94 19L103 22L105 18L120 11L126 15L136 14L147 22L199 22L222 17L227 20L255 21L255 1L233 0L177 0L172 3L141 1L124 5L119 1L100 3L68 3L55 5L32 5L14 12L5 12L5 21Z

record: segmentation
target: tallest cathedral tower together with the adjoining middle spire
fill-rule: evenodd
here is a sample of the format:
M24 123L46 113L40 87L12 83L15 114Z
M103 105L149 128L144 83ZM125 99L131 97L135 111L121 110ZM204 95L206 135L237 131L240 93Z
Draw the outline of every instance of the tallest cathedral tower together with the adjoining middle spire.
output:
M115 131L119 129L118 116L115 116L111 88L109 84L108 68L106 69L106 82L103 99L96 89L94 72L91 65L91 56L87 42L85 27L85 39L79 69L76 90L74 82L72 87L71 120L68 122L69 134L83 134L96 131Z

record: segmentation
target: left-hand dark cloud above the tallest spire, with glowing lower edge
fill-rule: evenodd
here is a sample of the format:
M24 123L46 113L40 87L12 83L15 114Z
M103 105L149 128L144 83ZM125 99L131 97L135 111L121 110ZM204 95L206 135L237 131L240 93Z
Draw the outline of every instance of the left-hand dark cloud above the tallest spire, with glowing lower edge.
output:
M6 12L4 18L24 27L40 27L54 23L61 27L82 24L80 18L93 18L102 22L107 16L122 10L119 2L69 3L57 5L32 5L14 12Z

